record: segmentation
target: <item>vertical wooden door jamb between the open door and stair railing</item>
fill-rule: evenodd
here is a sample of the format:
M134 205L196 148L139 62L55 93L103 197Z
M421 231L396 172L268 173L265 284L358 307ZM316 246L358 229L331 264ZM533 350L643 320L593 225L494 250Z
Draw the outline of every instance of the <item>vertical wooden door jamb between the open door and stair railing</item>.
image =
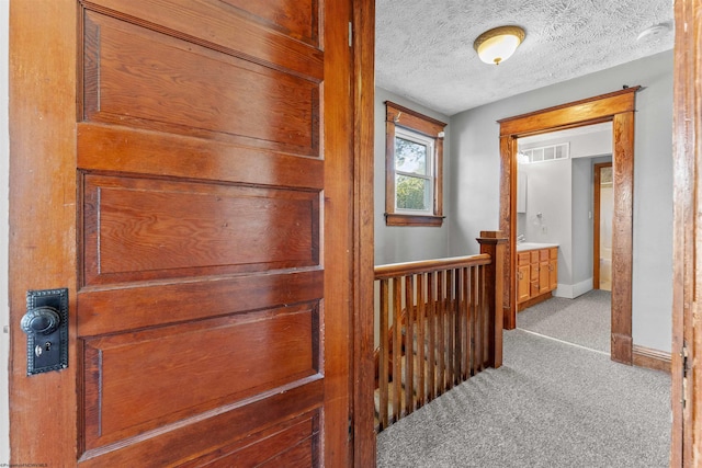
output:
M375 0L353 0L353 404L352 465L375 466L373 179ZM350 464L351 465L351 464Z

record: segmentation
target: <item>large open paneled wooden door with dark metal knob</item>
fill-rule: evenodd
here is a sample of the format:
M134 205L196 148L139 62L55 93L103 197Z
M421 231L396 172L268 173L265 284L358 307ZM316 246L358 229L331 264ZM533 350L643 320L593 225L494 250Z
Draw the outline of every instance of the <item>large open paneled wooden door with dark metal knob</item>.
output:
M12 2L12 463L349 464L350 18ZM57 287L69 366L27 377Z

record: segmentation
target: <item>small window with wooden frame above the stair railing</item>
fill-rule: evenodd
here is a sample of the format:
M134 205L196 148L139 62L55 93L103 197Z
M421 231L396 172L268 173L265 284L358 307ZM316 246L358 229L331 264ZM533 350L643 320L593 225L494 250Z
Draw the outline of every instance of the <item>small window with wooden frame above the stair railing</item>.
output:
M385 221L387 226L443 222L443 122L386 105Z

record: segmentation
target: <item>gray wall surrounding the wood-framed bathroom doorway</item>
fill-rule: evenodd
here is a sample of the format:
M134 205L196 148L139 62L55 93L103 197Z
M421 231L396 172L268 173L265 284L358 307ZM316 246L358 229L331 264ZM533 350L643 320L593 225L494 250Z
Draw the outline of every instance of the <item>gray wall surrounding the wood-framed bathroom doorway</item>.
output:
M670 351L672 298L672 52L537 89L451 118L450 255L476 252L499 226L499 124L540 109L642 84L634 157L634 344Z

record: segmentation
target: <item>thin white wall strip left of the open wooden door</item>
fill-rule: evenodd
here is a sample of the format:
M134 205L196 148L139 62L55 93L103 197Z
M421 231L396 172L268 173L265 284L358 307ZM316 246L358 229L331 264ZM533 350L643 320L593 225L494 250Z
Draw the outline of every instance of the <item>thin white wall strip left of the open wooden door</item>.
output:
M0 464L10 463L10 407L8 400L8 376L10 334L5 327L10 322L8 299L8 239L10 237L10 205L8 178L10 144L8 128L8 52L9 52L10 2L0 1Z

